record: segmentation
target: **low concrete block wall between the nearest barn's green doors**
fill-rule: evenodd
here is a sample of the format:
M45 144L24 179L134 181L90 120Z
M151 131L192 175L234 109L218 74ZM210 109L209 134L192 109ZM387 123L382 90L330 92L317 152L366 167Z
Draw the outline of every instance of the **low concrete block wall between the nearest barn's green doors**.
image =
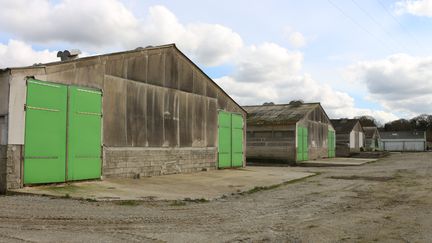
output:
M216 169L217 149L104 148L104 177L138 178Z

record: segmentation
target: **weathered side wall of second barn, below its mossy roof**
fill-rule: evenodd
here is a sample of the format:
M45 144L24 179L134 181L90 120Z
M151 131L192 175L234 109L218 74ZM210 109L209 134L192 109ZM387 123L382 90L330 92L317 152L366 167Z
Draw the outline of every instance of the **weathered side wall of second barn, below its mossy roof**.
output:
M248 126L246 140L248 161L295 161L295 125Z

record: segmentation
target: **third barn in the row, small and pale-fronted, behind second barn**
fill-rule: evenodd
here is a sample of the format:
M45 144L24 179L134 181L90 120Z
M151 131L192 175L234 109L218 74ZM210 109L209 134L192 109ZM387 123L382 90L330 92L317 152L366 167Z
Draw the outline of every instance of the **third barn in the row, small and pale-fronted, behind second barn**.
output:
M332 119L336 130L336 156L350 156L364 147L364 131L358 119Z

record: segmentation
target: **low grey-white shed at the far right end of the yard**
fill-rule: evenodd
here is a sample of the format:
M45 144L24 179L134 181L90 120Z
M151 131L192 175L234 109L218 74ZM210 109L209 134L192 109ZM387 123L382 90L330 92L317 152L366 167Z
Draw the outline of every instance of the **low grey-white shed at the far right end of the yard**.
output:
M424 131L380 132L380 135L383 150L399 152L426 151L426 132Z

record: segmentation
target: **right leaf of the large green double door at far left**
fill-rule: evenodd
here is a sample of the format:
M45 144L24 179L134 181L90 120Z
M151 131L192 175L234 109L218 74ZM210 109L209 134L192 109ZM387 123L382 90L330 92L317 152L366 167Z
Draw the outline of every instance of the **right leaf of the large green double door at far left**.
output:
M102 93L69 87L67 180L101 176Z

